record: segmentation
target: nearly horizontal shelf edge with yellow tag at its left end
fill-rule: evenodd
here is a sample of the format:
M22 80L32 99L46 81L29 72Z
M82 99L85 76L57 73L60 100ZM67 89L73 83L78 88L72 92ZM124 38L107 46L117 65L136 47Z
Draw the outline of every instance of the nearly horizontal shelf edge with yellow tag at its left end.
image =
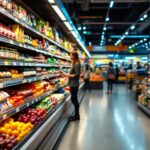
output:
M0 60L0 66L24 66L24 67L70 67L65 65L54 65L48 63L24 62L15 60Z

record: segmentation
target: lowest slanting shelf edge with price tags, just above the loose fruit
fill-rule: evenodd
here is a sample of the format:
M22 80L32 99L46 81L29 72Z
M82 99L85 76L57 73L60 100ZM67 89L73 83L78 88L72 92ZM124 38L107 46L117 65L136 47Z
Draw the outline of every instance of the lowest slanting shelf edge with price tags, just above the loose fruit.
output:
M52 90L52 91L47 91L45 92L43 95L37 97L37 98L34 98L34 97L30 97L26 103L22 104L21 106L17 106L16 108L12 108L4 113L2 113L0 115L0 122L11 117L12 115L22 111L23 109L29 107L30 105L42 100L43 98L47 97L48 95L54 93L55 91L57 91L58 89L62 88L62 87L65 87L66 85L64 86L60 86L60 87L57 87L56 89ZM31 100L32 99L32 100Z

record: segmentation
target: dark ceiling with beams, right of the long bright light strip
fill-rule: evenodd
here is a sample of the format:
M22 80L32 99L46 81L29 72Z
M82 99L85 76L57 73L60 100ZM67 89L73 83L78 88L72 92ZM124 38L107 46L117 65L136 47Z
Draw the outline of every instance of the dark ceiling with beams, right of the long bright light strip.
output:
M75 26L86 45L100 45L104 26L105 40L102 45L114 45L119 39L114 35L122 36L135 24L135 29L129 30L128 35L150 35L150 0L115 0L110 8L110 0L62 0ZM147 12L148 17L140 21L140 17ZM109 21L106 22L106 17ZM83 30L86 27L86 30ZM124 38L124 45L132 45L141 38Z

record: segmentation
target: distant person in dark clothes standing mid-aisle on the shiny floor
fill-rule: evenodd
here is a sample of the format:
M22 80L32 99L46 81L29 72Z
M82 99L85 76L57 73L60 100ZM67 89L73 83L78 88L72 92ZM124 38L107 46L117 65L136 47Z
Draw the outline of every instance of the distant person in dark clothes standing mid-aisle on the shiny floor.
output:
M108 81L107 94L112 94L114 80L115 80L115 70L113 68L113 63L110 62L107 69L107 81Z

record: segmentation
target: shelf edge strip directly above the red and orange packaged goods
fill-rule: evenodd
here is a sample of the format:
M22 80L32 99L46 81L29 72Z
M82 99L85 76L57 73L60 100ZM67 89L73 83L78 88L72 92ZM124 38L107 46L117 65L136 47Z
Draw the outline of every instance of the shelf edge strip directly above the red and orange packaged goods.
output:
M58 77L60 74L56 75L42 75L42 76L34 76L34 77L26 77L23 79L11 79L7 81L2 81L0 82L0 89L14 86L14 85L19 85L19 84L24 84L24 83L31 83L34 81L39 81L39 80L44 80L44 79L50 79L54 77Z

